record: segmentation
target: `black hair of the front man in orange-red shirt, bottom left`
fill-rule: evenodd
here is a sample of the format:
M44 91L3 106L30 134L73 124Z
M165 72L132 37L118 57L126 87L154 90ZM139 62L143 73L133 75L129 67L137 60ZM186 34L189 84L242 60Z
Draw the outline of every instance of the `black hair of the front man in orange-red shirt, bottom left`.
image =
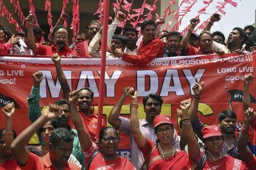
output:
M61 139L64 140L64 142L72 142L74 135L66 128L59 127L51 133L49 142L53 145L53 147L56 147Z

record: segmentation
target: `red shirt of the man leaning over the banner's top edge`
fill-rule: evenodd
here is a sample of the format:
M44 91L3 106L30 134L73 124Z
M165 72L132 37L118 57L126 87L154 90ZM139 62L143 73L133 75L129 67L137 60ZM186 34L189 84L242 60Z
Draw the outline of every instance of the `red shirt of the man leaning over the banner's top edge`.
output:
M137 49L137 55L124 54L122 59L136 65L147 65L156 57L163 57L163 43L160 39L156 38L148 44L143 41Z

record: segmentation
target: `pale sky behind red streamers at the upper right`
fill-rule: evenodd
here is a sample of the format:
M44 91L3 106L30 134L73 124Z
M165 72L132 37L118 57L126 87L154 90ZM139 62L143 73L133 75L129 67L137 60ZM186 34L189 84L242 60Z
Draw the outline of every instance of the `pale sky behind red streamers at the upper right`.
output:
M166 0L164 0L166 1ZM256 10L256 0L233 0L237 2L237 6L234 7L231 4L226 4L223 9L226 12L226 15L221 14L221 20L219 22L215 22L211 27L211 32L213 31L221 31L224 36L228 38L228 34L234 27L244 28L246 25L251 25L255 22L255 10ZM224 0L213 0L210 6L207 8L206 12L208 14L200 15L200 20L207 20L211 16L211 14L215 13L215 7L218 5L216 2L224 2ZM181 0L179 1L181 3ZM184 6L184 5L182 5ZM179 31L184 30L187 25L189 25L189 20L198 15L198 10L202 9L205 4L203 4L203 0L197 0L197 3L192 7L191 11L187 13L182 19L182 25L179 27ZM182 9L182 7L181 7ZM200 23L198 23L200 25ZM197 33L200 33L198 31Z

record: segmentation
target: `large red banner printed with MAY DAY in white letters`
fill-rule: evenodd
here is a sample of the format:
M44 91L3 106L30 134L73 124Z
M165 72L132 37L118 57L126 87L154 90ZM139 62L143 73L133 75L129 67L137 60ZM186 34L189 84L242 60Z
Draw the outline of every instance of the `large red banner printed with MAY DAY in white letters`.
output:
M178 130L179 118L176 108L179 102L191 98L195 78L205 81L202 99L199 105L199 117L203 123L217 124L217 116L222 110L229 110L229 98L233 110L237 114L237 127L243 122L242 109L242 78L247 73L255 76L256 53L244 55L225 54L158 58L144 67L126 63L121 59L107 59L105 72L105 99L103 113L105 120L113 105L121 97L123 87L135 86L139 95L140 118L145 117L142 99L150 93L160 94L164 105L161 113L170 114L174 127ZM62 68L68 78L72 90L90 87L95 93L93 109L97 113L98 91L100 80L100 59L62 59ZM3 107L10 101L16 103L14 116L14 129L18 133L30 124L28 119L27 97L30 95L33 80L32 74L40 70L43 72L43 81L40 85L41 101L43 107L61 98L61 86L56 79L54 63L49 58L36 57L0 57L0 105ZM256 97L256 81L250 85L250 94ZM129 103L127 99L122 108L121 115L129 116ZM253 104L252 107L256 108ZM4 116L0 115L0 128L5 127ZM179 130L178 130L179 131ZM252 145L254 136L250 136ZM119 148L129 148L129 140L121 138Z

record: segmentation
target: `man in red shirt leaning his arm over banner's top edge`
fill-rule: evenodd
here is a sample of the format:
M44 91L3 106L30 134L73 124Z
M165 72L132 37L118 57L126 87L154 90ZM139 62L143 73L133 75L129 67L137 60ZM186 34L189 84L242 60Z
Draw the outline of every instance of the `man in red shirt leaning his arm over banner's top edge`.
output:
M136 65L147 65L156 57L163 57L163 43L156 38L156 23L153 20L145 20L140 29L143 41L137 49L137 55L126 54L122 49L116 49L116 57L122 57L126 62Z

